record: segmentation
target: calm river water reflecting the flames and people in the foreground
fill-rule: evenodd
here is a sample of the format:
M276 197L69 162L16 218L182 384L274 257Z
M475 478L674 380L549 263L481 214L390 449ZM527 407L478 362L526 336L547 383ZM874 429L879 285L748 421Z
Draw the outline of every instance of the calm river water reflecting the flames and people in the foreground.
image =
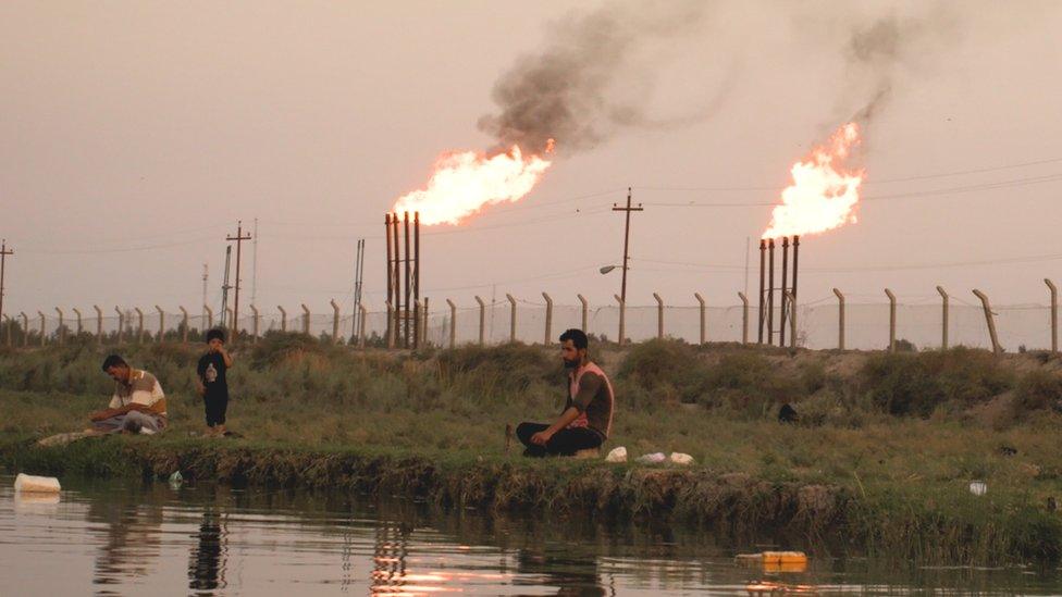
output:
M684 525L492 517L402 499L0 476L0 595L1062 594L1057 570L812 558L771 572Z

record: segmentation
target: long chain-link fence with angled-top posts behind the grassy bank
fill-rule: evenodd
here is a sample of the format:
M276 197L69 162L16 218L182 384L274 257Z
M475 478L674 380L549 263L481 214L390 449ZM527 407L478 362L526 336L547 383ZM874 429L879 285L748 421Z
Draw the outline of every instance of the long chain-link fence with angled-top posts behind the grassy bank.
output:
M308 308L307 308L308 309ZM992 318L999 343L1004 350L1052 349L1052 308L1042 304L993 307ZM11 347L47 346L72 341L97 341L104 345L125 343L199 341L202 333L221 326L222 320L212 313L169 312L136 308L112 309L97 314L95 310L76 312L55 309L34 313L5 314L0 322L0 344ZM422 338L429 346L482 343L497 345L510 340L527 344L555 341L570 327L583 328L600 340L619 338L621 310L618 304L555 304L515 299L485 303L482 308L459 304L454 309L445 301L432 300L423 314ZM798 346L810 349L838 348L840 341L840 310L836 302L800 306L796 313ZM748 318L748 323L745 323ZM775 335L764 340L778 344L780 310L775 310ZM584 325L585 320L585 325ZM757 307L748 311L742 304L708 306L628 306L623 313L627 341L642 341L663 336L680 338L691 344L701 341L702 320L704 339L709 343L741 343L758 340ZM879 350L889 347L890 308L882 303L849 303L844 309L844 348ZM346 345L387 346L388 323L395 316L386 311L363 313L311 312L301 307L289 311L240 312L238 329L245 340L255 340L270 333L305 333L324 341ZM231 313L225 327L231 328ZM363 329L362 329L363 325ZM748 325L748 328L745 328ZM406 320L400 320L405 329ZM409 322L410 334L415 328ZM787 324L787 344L790 334ZM944 319L941 303L897 304L894 335L917 349L939 348L944 341ZM398 336L399 345L400 338ZM949 346L992 348L986 313L979 306L949 306L947 320ZM362 341L363 338L363 341Z

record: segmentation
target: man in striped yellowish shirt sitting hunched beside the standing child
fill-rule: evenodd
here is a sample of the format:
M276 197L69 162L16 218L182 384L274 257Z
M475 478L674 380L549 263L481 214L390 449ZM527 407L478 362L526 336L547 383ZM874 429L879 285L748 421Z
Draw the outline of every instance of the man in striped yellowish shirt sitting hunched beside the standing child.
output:
M114 396L107 410L88 415L88 432L153 434L165 428L165 395L155 375L131 368L118 355L108 357L102 369L114 380Z

